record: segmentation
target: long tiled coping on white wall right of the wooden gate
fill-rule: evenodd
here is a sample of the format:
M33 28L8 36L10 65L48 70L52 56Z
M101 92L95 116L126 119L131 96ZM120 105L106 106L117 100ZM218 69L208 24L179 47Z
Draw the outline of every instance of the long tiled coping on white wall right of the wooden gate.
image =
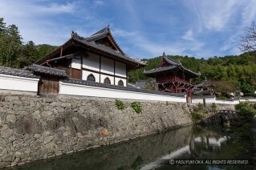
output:
M116 90L122 90L122 91L135 91L135 92L143 92L143 93L149 93L149 94L156 94L156 95L169 95L169 96L177 96L177 97L184 97L185 94L179 94L179 93L169 93L169 92L162 92L162 91L149 91L149 90L142 90L134 87L121 87L111 84L105 84L105 83L95 83L90 82L86 80L79 80L79 79L63 79L61 80L63 83L73 83L73 84L81 84L86 86L92 86L92 87L104 87L104 88L110 88L110 89L116 89Z

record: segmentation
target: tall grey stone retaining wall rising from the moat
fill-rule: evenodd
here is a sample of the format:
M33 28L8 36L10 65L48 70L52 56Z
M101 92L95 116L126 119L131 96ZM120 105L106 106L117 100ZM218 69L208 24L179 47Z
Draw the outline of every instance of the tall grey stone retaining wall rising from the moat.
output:
M185 103L0 95L0 168L78 152L192 123Z

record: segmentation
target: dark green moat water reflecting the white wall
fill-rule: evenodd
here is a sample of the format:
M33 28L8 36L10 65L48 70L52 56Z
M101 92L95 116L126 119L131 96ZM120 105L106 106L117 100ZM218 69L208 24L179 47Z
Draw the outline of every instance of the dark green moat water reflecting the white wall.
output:
M8 169L256 169L250 130L183 127L120 144ZM174 164L169 160L248 160L249 164Z

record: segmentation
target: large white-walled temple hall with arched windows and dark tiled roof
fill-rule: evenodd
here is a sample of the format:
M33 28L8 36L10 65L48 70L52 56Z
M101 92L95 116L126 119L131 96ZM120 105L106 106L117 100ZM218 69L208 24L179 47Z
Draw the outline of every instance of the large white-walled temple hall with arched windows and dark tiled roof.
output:
M41 76L40 94L49 93L49 84L52 82L54 83L51 87L55 89L51 91L57 92L57 82L63 78L55 75L53 79L47 71L42 74L43 67L39 65L50 67L51 71L56 69L54 72L59 72L59 75L66 72L69 79L127 87L128 71L144 67L146 64L124 54L107 26L87 38L72 32L67 42L35 63L32 68Z

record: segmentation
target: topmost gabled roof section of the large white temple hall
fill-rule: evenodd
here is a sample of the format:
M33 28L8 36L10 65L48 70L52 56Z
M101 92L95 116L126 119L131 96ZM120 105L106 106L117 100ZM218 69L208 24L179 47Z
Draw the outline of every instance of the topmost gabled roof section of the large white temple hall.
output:
M124 51L122 51L122 49L120 48L120 46L119 46L118 43L116 42L115 38L112 36L112 33L111 33L111 30L110 30L110 27L109 27L109 26L104 27L104 29L99 30L99 31L96 32L95 34L91 34L90 37L87 37L87 38L84 38L84 39L86 39L88 42L91 42L91 41L95 42L95 41L97 41L97 40L99 40L99 39L101 39L101 38L107 37L108 34L110 34L110 36L112 37L112 39L113 39L113 41L114 41L116 47L118 48L118 50L119 50L123 55L125 55L125 54L124 54Z

